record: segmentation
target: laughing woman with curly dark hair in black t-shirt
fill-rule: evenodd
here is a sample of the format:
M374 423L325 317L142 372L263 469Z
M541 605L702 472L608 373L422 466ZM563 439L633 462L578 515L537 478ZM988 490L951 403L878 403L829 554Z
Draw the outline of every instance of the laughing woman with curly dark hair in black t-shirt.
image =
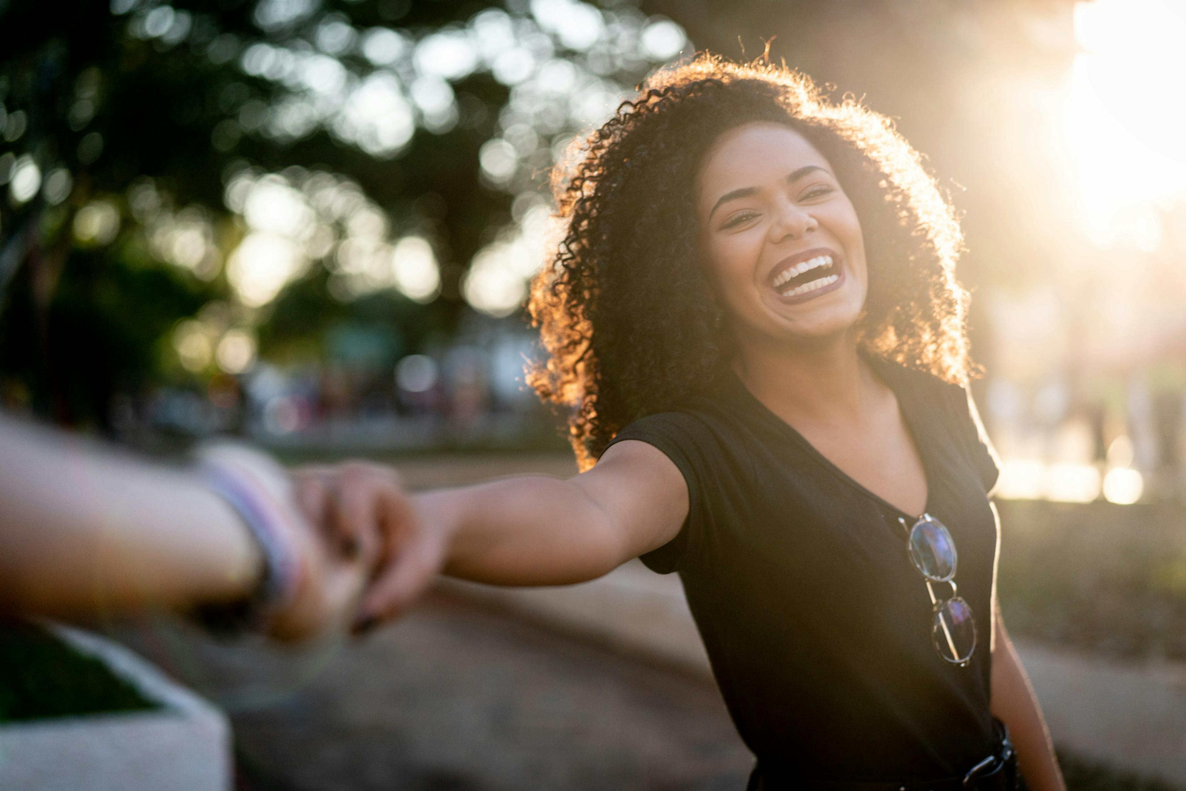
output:
M642 556L681 575L751 787L1010 787L994 715L1029 787L1063 787L996 608L959 229L890 121L700 57L591 135L559 203L534 385L576 407L584 472L413 518L375 470L308 484L388 534L359 626L436 570L561 585Z

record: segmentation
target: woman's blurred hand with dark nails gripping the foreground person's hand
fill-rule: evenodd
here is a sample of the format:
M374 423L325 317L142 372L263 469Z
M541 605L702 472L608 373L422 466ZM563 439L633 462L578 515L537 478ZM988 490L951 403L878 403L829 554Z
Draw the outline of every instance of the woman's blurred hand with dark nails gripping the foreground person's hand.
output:
M305 516L368 563L370 583L353 631L365 632L402 614L440 572L448 538L416 510L398 473L350 461L301 467L293 478Z

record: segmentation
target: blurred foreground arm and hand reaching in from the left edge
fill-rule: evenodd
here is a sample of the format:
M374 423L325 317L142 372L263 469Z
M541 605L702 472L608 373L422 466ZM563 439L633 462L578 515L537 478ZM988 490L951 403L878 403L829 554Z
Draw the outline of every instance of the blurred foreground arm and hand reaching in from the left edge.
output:
M230 605L275 581L278 554L291 561L285 589L269 597L260 627L304 639L349 612L364 553L315 535L283 503L291 484L266 457L240 449L204 466L223 485L211 485L209 472L147 464L0 415L0 612L70 619ZM287 505L294 515L279 528L270 518L272 546L244 519L253 504L228 499L227 481L238 486L240 471L248 497L259 492L275 513Z

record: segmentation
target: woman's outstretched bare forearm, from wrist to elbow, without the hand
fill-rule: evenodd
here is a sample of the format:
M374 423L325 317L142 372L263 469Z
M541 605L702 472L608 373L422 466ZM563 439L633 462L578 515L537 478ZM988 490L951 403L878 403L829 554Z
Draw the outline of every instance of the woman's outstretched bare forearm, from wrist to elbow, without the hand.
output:
M568 585L629 560L608 516L572 480L523 477L416 496L448 547L444 572L491 585Z

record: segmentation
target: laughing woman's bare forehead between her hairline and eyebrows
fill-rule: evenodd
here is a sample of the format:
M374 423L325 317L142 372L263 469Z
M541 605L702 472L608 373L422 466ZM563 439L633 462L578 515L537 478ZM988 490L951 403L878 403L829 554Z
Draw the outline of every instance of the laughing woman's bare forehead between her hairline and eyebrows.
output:
M713 143L700 168L701 200L739 187L780 181L806 165L831 171L823 154L798 132L779 123L746 123Z

